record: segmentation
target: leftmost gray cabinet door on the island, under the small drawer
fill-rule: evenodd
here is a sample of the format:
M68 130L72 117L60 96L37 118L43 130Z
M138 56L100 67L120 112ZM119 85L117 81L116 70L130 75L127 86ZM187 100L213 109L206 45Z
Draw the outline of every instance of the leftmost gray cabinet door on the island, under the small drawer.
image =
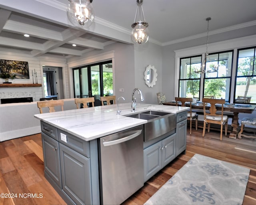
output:
M59 142L42 133L44 172L61 188Z

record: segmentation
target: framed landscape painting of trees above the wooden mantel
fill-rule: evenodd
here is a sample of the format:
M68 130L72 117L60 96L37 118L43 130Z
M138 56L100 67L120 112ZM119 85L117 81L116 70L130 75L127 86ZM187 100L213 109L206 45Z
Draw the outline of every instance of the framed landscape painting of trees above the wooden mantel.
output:
M16 75L16 79L29 79L28 62L0 59L0 73Z

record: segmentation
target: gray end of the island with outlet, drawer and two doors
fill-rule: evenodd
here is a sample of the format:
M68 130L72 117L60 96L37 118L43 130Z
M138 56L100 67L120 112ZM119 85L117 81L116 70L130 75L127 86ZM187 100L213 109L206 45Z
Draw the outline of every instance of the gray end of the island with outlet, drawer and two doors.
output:
M68 204L100 204L97 140L41 122L46 179Z

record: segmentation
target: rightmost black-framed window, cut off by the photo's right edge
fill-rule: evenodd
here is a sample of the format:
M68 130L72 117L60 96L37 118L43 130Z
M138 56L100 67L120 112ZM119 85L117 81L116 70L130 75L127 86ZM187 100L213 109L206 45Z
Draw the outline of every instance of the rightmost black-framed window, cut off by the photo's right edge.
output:
M238 49L235 103L256 103L255 49L256 47Z

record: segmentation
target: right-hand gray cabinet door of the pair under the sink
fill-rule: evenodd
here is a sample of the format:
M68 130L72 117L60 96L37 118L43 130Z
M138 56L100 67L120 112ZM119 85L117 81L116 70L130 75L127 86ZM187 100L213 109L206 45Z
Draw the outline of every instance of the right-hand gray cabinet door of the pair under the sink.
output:
M176 134L162 140L162 168L176 157Z

